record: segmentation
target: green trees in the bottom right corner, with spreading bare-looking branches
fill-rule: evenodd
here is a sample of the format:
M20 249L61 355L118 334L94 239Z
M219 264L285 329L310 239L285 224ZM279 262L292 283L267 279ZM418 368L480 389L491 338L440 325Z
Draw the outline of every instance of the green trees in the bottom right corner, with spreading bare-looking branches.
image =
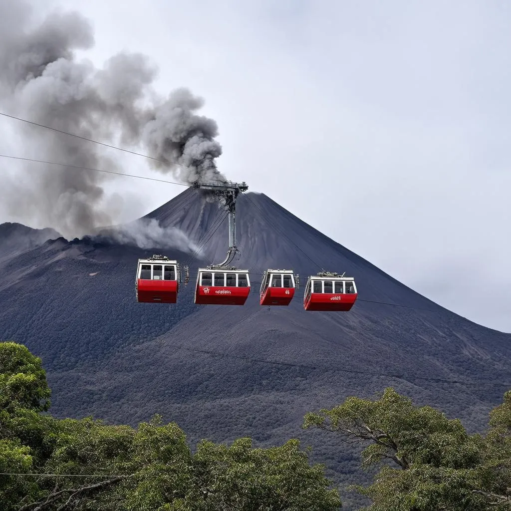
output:
M387 388L376 400L347 398L305 416L304 428L362 442L362 466L379 470L355 486L371 511L509 511L511 396L491 414L491 430L469 435L459 420Z

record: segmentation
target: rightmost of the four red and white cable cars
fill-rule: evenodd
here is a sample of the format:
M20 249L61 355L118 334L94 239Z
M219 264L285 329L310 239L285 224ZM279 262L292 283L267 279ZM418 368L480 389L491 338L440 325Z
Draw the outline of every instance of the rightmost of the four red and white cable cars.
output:
M321 272L310 276L304 293L306 311L349 311L357 299L353 277Z

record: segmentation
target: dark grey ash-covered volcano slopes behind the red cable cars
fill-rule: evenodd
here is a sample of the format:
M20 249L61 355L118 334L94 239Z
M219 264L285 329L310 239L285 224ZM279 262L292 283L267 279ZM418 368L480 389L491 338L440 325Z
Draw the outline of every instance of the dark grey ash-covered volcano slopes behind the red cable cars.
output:
M393 386L470 428L486 423L506 387L381 373L511 382L510 334L434 304L264 194L241 195L237 212L237 265L250 269L252 280L244 307L193 304L196 268L225 256L226 222L190 262L191 283L171 306L135 302L136 260L159 249L59 238L0 259L0 338L42 357L54 414L136 424L160 413L192 444L206 437L247 435L262 445L299 437L343 483L353 482L357 456L334 438L301 431L307 411ZM216 202L188 189L147 218L200 243L222 214ZM189 253L165 253L190 260ZM303 286L288 308L259 305L266 268L291 267L305 284L320 266L356 277L359 300L351 312L305 312Z

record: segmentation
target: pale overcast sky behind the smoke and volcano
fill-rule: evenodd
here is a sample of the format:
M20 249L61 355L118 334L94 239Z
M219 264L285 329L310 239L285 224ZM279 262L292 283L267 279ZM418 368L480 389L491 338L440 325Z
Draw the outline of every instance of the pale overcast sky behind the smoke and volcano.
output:
M160 68L160 92L202 96L229 179L440 305L511 332L511 3L36 5L91 19L86 56L98 66L142 52ZM143 158L123 158L125 172L160 177ZM109 190L137 198L127 220L182 187L120 178Z

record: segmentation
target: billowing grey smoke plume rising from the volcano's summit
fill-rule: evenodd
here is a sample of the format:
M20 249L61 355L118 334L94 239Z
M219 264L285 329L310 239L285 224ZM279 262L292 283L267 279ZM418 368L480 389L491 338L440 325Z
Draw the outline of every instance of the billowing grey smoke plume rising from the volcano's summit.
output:
M217 124L196 114L201 98L185 88L159 97L151 87L157 68L141 54L114 55L102 69L77 60L76 50L94 46L91 25L78 13L55 12L40 24L32 23L31 14L22 0L0 0L4 112L93 140L138 147L154 158L149 160L154 168L185 183L225 180L215 164L222 153L215 140ZM120 171L98 144L31 125L21 129L21 150L30 148L30 157ZM12 214L37 217L66 237L112 223L114 206L106 203L102 188L105 174L27 166L32 166L30 173L27 167L16 184L1 187L0 200Z

